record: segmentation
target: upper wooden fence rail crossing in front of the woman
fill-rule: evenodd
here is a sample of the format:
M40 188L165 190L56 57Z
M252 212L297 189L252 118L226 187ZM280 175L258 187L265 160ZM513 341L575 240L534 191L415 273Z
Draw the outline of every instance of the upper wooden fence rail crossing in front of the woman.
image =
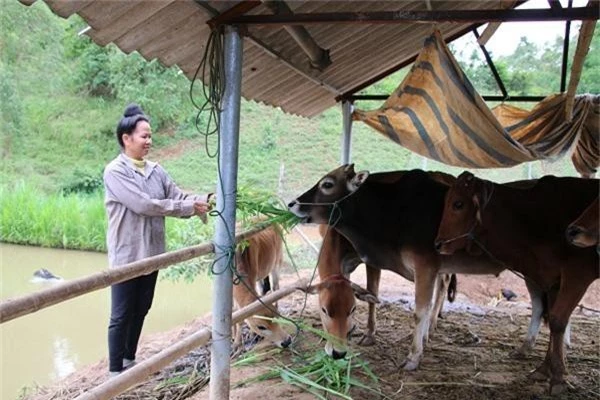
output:
M259 225L236 235L236 242L247 239L267 228L267 226L268 225ZM0 324L74 297L106 288L115 283L146 275L156 270L166 268L172 264L187 261L213 252L214 246L212 243L203 243L144 258L117 268L110 268L29 295L7 299L0 303Z

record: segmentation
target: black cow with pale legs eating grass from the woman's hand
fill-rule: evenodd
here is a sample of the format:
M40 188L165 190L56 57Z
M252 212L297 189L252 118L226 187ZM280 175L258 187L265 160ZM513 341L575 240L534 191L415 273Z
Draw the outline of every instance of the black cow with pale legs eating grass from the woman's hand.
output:
M421 170L356 173L354 165L347 164L326 174L288 204L306 223L333 226L367 265L415 282L416 324L411 350L403 362L405 370L416 369L422 358L440 274L498 275L505 269L489 257L465 252L442 256L435 251L444 198L454 180L448 174ZM536 293L530 295L537 298ZM532 313L541 315L537 304L532 303ZM539 327L539 321L532 318L531 324Z

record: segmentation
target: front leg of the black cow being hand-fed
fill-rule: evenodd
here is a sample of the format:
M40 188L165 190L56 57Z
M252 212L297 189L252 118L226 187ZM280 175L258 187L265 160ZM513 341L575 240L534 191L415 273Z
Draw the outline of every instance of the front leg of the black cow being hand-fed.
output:
M437 270L431 264L422 262L415 265L415 330L410 353L403 363L407 371L419 367L423 356L423 339L429 331L431 321L432 297L435 288Z

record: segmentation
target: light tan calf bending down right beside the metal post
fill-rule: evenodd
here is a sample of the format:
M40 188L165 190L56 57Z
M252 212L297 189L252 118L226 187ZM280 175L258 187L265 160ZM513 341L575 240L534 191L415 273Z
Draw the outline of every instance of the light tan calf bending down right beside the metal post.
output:
M233 299L237 307L242 308L259 298L256 283L262 283L262 294L268 291L267 284L271 275L273 290L279 289L279 267L283 260L283 238L277 225L254 234L247 243L239 246L235 253L237 274L233 285ZM239 282L238 282L239 280ZM278 347L288 347L291 336L273 318L277 317L276 304L263 304L256 315L246 319L250 330ZM234 347L242 344L241 324L234 326Z

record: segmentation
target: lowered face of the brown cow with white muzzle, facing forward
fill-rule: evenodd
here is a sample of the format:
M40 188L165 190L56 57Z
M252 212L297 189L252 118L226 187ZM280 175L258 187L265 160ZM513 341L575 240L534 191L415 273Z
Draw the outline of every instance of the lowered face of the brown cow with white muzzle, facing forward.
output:
M355 297L379 303L371 292L351 283L343 275L330 275L322 282L306 288L308 293L319 295L319 315L323 330L327 333L325 352L335 358L344 358L348 348L348 338L354 328Z

